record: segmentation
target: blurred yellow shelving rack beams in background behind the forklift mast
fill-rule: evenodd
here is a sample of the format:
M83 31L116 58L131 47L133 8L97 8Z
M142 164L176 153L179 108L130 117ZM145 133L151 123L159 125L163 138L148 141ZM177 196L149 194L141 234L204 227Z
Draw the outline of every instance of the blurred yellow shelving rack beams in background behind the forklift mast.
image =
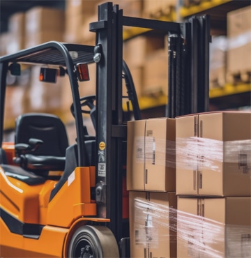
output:
M177 0L178 1L178 0ZM205 13L211 17L211 30L216 34L227 33L227 12L249 6L250 1L236 0L201 0L197 5L188 7L182 6L182 2L178 1L176 6L176 15L170 13L168 16L162 16L159 19L163 21L175 21L176 19L188 20L193 15L204 15ZM177 14L178 12L178 14ZM135 36L148 33L150 29L129 28L123 31L123 40L130 40ZM251 105L251 84L225 84L223 87L209 89L209 98L212 105L220 109L237 108L240 105ZM234 100L235 98L235 100ZM152 109L155 107L164 107L167 105L166 96L139 97L139 107L141 109ZM229 105L231 103L231 105Z

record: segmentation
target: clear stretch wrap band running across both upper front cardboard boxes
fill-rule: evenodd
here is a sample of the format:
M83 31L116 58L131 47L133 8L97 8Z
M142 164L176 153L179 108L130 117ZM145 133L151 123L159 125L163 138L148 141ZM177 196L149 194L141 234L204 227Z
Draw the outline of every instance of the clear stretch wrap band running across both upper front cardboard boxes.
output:
M145 144L145 145L144 145ZM141 151L144 149L145 151ZM251 170L251 139L222 142L201 137L176 138L176 142L137 137L137 162L197 170L221 171L220 162L236 163L243 174Z

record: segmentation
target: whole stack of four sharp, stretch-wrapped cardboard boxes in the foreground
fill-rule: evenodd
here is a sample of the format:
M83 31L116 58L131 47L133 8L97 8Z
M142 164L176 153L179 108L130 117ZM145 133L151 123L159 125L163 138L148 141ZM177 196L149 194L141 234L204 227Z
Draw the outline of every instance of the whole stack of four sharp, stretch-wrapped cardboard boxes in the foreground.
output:
M130 121L127 171L131 257L250 257L250 112Z

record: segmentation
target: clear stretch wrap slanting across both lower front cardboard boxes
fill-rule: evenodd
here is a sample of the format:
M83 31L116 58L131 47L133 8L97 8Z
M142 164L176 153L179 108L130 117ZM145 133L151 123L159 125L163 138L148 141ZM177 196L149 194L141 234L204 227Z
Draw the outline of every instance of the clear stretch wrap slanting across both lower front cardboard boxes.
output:
M251 257L250 225L225 225L142 198L134 204L137 248L158 248L169 232L169 241L177 241L177 257L184 255L181 250L186 257Z

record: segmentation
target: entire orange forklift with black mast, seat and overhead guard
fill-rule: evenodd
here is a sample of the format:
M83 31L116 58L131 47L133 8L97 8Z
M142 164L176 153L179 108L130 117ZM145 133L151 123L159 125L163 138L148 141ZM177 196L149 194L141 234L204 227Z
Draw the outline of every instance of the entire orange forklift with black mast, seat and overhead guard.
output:
M123 26L169 34L166 116L208 110L208 15L179 24L126 17L118 5L102 3L89 28L95 46L52 41L2 56L0 257L130 257L126 122L141 113L123 61ZM79 82L91 79L90 63L96 63L96 96L81 97ZM75 144L68 144L59 117L34 112L16 119L15 142L3 142L6 78L22 74L22 64L40 66L42 82L68 76ZM126 111L123 98L131 103ZM86 112L96 136L86 130Z

